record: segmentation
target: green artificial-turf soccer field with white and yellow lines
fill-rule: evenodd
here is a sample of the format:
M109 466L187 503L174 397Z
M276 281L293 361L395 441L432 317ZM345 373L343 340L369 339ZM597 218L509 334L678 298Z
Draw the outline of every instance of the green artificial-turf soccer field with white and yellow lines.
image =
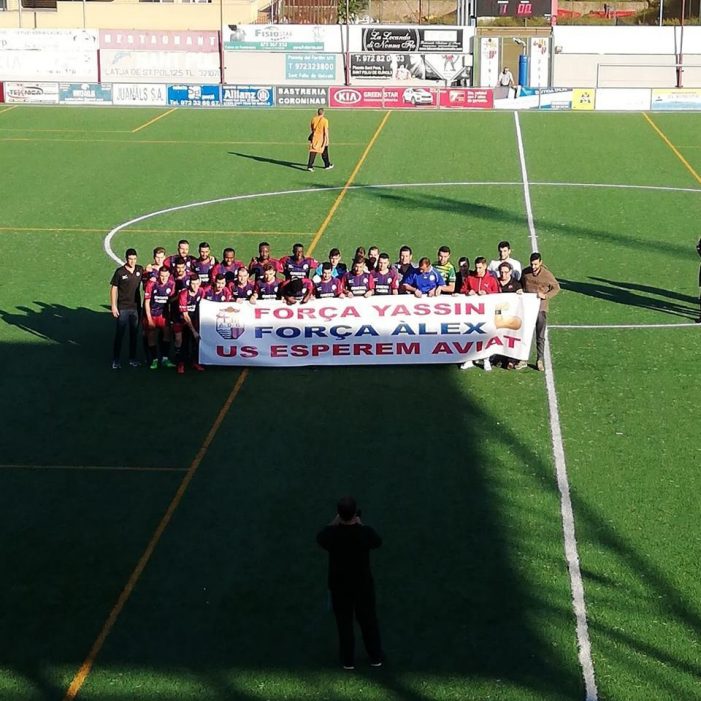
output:
M701 117L330 111L308 173L311 116L0 108L0 700L701 699ZM112 371L110 253L180 238L537 248L546 372ZM388 656L351 673L345 493Z

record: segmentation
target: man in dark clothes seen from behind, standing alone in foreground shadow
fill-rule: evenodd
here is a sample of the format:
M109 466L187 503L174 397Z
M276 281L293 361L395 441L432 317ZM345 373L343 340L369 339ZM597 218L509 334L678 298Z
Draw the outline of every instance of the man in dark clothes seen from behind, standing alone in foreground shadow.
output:
M365 649L373 667L383 661L380 629L375 613L375 586L370 572L370 550L382 545L382 538L360 520L353 497L343 497L338 513L316 537L329 553L329 590L336 616L343 669L355 669L353 615L358 619Z

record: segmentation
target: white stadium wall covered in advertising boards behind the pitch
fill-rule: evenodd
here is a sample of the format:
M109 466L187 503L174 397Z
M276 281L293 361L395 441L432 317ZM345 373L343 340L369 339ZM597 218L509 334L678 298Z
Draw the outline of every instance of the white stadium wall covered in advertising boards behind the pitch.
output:
M673 87L681 41L674 27L532 36L530 85L516 95L493 87L499 54L485 53L482 41L472 75L474 32L463 27L0 29L0 82L4 100L16 104L701 109L699 27L685 30L683 89Z

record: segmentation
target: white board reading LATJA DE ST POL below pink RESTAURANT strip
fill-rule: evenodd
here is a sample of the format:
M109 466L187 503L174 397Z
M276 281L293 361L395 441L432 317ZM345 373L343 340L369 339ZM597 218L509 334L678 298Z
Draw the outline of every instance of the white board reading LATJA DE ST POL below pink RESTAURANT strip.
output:
M128 83L219 83L219 54L183 51L100 51L104 81Z

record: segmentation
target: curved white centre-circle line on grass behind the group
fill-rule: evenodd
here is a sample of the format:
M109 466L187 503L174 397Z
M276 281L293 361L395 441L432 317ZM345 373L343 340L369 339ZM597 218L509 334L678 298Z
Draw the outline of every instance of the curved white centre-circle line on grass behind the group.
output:
M521 155L519 153L519 155ZM583 188L609 188L614 190L654 190L658 192L689 192L694 194L701 194L701 188L693 187L666 187L662 185L625 185L617 183L531 183L531 187L542 186L542 187L583 187ZM400 188L427 188L427 187L523 187L523 182L490 182L490 181L454 181L454 182L443 182L443 183L387 183L383 185L352 185L348 190L389 190L389 189L400 189ZM122 265L124 262L119 256L112 250L112 240L114 237L129 226L138 224L139 222L146 221L153 217L158 217L161 214L170 214L171 212L179 212L185 209L193 209L195 207L206 207L210 204L221 204L223 202L236 202L238 200L253 200L263 197L283 197L285 195L304 195L312 192L334 192L342 190L343 186L334 187L310 187L310 188L300 188L298 190L280 190L277 192L257 192L248 195L233 195L230 197L219 197L212 200L204 200L202 202L189 202L187 204L181 204L176 207L167 207L166 209L159 209L156 212L150 212L148 214L142 214L139 217L131 219L119 226L114 227L111 231L107 233L103 242L103 248L105 253L116 263ZM529 200L530 201L530 200ZM531 214L532 219L532 214Z

